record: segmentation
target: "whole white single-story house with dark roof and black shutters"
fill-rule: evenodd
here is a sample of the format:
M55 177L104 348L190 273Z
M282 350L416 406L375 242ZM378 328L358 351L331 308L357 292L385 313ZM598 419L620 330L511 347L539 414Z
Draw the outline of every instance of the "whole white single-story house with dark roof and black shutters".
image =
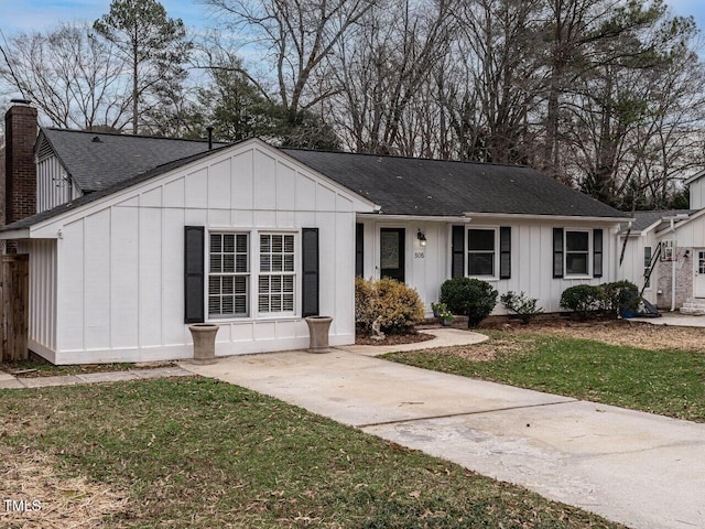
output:
M629 215L529 168L178 141L42 129L36 213L0 230L30 256L32 350L188 358L192 322L220 325L217 355L303 348L313 314L351 344L356 274L405 282L429 312L451 277L545 312L568 287L620 279Z

